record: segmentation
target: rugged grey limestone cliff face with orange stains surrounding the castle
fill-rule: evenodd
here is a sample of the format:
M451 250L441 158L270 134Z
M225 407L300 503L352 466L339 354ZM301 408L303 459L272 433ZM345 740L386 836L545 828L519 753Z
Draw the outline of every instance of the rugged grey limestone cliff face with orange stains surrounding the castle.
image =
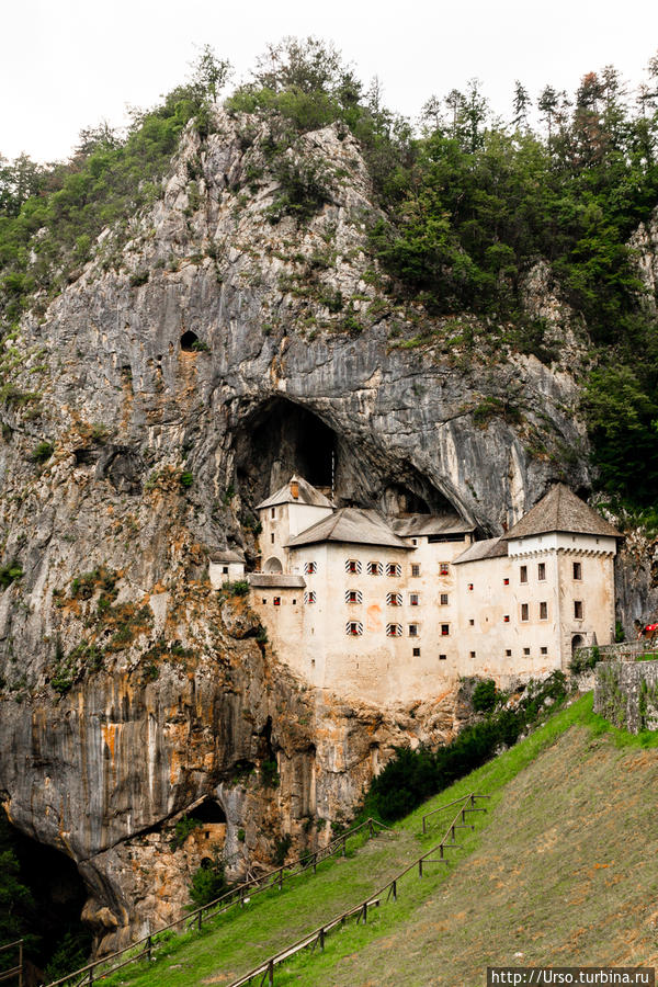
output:
M78 863L101 950L182 912L198 853L171 830L200 799L235 875L284 835L328 840L393 746L463 716L450 692L316 694L257 639L206 574L217 548L253 558L261 497L295 470L339 503L413 496L499 533L552 481L589 483L572 353L551 368L392 303L355 143L279 151L324 183L299 223L273 126L190 128L161 200L4 342L0 793Z

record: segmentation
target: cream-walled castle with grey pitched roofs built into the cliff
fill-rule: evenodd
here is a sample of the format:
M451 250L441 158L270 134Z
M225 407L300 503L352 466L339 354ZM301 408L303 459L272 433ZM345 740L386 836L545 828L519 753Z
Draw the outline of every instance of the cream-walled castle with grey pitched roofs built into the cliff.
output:
M337 510L297 476L257 510L251 605L280 657L319 688L410 703L462 676L504 688L613 640L621 535L561 484L485 541L457 514Z

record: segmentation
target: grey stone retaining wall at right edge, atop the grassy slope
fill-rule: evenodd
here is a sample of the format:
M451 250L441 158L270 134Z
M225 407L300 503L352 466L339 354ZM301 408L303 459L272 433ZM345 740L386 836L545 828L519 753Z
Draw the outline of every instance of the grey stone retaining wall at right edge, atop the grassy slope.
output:
M603 661L597 667L594 713L637 734L658 729L658 661Z

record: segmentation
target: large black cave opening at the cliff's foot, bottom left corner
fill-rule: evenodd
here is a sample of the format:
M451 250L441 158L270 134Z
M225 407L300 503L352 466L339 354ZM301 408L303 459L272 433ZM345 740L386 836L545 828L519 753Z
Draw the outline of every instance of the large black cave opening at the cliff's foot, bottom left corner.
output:
M92 946L80 918L89 895L73 861L24 836L1 812L0 854L0 882L12 901L2 938L25 940L23 983L49 984L83 966Z

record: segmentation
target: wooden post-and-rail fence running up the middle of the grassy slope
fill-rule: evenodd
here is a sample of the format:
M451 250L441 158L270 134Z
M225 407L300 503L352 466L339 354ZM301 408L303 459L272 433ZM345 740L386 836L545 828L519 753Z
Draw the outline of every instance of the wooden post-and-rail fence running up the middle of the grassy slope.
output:
M268 987L272 987L274 984L274 969L279 966L280 963L283 963L285 960L290 960L292 956L302 952L302 950L311 949L315 950L316 946L319 948L320 952L325 949L325 939L329 932L339 926L344 926L345 921L349 918L356 917L356 923L363 921L364 923L367 921L367 909L368 908L378 908L382 901L382 897L385 892L388 892L386 896L386 901L393 898L394 901L397 901L398 897L398 882L409 874L411 871L418 867L418 876L423 876L423 866L429 863L444 863L447 864L447 859L444 856L445 850L449 849L458 849L458 844L455 841L455 830L457 829L475 829L475 827L467 822L458 822L457 820L462 817L464 820L464 812L474 812L475 810L475 799L476 798L490 798L490 795L478 795L475 792L469 792L468 795L464 795L462 798L456 798L454 802L449 802L446 805L440 806L438 809L434 809L432 813L428 813L428 816L433 816L439 812L442 812L446 808L450 808L453 805L460 804L460 809L455 815L452 822L449 825L445 830L445 835L440 843L435 843L427 853L423 853L421 856L417 858L412 863L410 863L404 871L400 871L399 874L396 874L395 877L392 877L387 884L376 890L374 894L368 895L367 898L364 898L358 905L349 908L347 911L343 911L341 915L334 916L328 922L324 922L319 928L314 929L313 932L309 932L303 939L297 940L292 945L287 945L284 949L280 950L279 953L275 953L273 956L269 956L266 960L263 960L259 963L258 966L254 966L248 973L242 974L242 976L238 977L236 980L231 980L228 987L245 987L246 984L250 984L256 977L261 977L259 987L264 987L265 982ZM470 802L470 807L465 807L463 805L464 802ZM486 812L486 809L481 809ZM426 817L427 818L427 817ZM423 819L424 824L424 819ZM423 829L424 831L424 829ZM450 841L449 841L450 837ZM439 851L439 856L432 856L432 854Z

